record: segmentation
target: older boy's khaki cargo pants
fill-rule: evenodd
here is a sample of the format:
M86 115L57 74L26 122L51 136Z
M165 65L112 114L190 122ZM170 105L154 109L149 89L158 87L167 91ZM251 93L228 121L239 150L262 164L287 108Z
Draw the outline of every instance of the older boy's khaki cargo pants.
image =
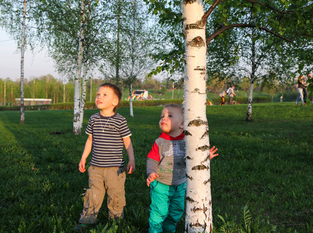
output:
M125 167L100 168L90 166L89 189L84 195L84 210L80 214L80 223L94 224L102 205L105 191L108 196L109 219L123 218L126 205L124 183Z

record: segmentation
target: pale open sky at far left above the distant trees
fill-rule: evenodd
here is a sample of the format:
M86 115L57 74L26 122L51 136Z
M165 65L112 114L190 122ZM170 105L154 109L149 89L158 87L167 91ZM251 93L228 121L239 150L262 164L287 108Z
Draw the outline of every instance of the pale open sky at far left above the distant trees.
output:
M54 61L46 53L47 50L36 53L26 50L24 52L24 79L52 74L59 79L55 71ZM10 78L13 81L21 77L21 51L17 50L17 43L10 38L9 34L0 29L0 79Z

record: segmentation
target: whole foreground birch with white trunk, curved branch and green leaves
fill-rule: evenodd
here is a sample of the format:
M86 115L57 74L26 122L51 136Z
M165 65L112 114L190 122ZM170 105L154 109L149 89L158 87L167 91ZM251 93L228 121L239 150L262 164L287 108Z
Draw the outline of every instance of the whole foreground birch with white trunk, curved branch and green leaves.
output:
M203 97L207 74L206 46L218 36L227 36L227 30L232 28L262 30L269 34L267 42L270 44L274 37L290 43L298 37L306 37L312 43L312 2L304 0L297 3L293 1L207 0L205 3L208 7L204 11L201 0L182 0L182 14L175 12L176 8L170 7L172 1L146 0L146 2L150 3L150 11L159 15L160 23L175 24L183 21L185 46L181 50L184 51L184 58L181 57L182 53L179 49L163 55L158 54L155 58L163 62L151 73L156 74L167 69L172 71L184 59L184 128L187 164L185 231L188 233L212 232L208 121ZM174 1L173 5L177 6L177 2ZM219 12L218 22L206 27L208 17L213 11ZM259 12L265 13L259 21L253 21L249 17ZM242 20L239 15L246 17ZM263 40L261 37L257 39ZM178 47L180 44L174 43L174 45ZM299 54L298 58L301 59ZM302 59L302 61L307 60Z

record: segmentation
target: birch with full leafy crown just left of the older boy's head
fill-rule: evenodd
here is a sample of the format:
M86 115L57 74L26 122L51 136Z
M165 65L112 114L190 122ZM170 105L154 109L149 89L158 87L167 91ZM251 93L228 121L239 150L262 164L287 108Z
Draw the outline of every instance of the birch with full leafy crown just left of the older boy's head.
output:
M90 67L105 56L103 40L110 12L93 0L45 1L41 12L49 22L43 32L60 73L74 80L73 133L80 134ZM82 72L84 69L84 72Z

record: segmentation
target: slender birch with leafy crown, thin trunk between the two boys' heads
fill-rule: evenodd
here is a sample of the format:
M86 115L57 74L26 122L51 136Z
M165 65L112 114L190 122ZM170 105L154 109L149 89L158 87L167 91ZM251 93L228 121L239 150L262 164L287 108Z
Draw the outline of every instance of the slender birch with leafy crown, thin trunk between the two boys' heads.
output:
M133 82L143 79L145 73L155 64L149 54L156 51L158 42L153 22L149 25L148 16L144 12L146 7L141 1L118 1L118 3L122 6L115 10L117 23L111 28L111 33L116 37L110 38L107 43L111 45L108 49L112 52L104 59L102 70L107 78L114 79L112 71L115 69L120 85L125 86L131 96ZM130 98L130 116L134 116L132 98Z

